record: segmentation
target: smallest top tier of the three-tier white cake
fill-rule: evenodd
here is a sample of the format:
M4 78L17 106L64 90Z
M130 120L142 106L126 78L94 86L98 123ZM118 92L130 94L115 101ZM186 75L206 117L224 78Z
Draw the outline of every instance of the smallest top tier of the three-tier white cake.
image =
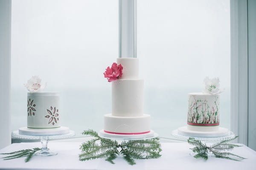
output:
M137 58L117 58L117 64L123 67L120 79L137 79L139 76L139 60Z

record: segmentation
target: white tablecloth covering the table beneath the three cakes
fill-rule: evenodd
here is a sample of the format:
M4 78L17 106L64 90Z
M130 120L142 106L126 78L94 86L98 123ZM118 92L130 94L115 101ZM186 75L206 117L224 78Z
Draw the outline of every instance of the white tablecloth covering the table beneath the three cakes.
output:
M231 161L209 157L207 161L195 159L189 155L187 143L162 143L162 156L159 159L136 160L131 166L121 157L110 164L104 159L79 161L79 146L81 142L49 142L49 148L58 152L56 156L34 156L29 162L24 157L12 160L0 159L0 169L12 170L256 170L256 151L243 146L235 148L232 153L246 157L243 161ZM16 143L0 150L0 153L12 152L21 149L41 147L41 143ZM2 155L1 155L2 156Z

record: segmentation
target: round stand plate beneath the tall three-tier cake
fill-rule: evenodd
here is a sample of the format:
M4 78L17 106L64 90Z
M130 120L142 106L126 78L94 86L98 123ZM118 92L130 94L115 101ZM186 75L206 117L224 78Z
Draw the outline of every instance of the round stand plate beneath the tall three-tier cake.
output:
M108 139L116 139L116 140L144 140L144 139L156 138L158 134L154 133L153 130L150 130L149 133L145 133L145 134L119 135L119 134L106 133L102 129L99 131L99 136L108 138Z

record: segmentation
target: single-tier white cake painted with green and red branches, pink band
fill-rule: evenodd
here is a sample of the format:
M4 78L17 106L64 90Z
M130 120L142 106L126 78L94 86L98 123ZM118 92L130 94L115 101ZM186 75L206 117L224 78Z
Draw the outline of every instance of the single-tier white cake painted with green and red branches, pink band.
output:
M219 95L190 93L187 124L188 130L218 130Z

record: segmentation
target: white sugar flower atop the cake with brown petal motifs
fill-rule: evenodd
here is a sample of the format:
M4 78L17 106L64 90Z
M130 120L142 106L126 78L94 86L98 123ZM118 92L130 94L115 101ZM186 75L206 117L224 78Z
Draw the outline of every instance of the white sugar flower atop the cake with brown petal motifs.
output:
M46 87L47 83L42 85L41 78L39 76L32 76L31 79L28 80L28 83L24 85L30 92L39 92Z

